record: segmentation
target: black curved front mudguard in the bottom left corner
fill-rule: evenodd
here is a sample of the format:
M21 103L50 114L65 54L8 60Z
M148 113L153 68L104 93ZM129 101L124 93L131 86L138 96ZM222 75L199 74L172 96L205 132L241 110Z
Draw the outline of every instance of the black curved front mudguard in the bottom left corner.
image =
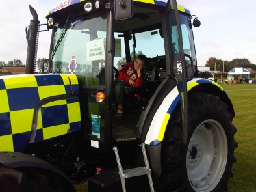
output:
M50 163L42 161L42 159L38 159L35 156L23 154L20 152L0 152L0 166L5 166L11 169L20 167L36 167L47 169L57 174L57 176L59 176L59 178L64 183L68 184L70 190L76 191L72 181L63 172L61 172L60 169L57 169Z

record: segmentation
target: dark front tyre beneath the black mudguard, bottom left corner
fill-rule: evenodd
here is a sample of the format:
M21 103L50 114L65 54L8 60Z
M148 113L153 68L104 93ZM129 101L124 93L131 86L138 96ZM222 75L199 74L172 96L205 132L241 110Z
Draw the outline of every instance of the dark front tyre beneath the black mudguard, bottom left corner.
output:
M31 168L9 169L0 167L1 192L69 191L51 172Z

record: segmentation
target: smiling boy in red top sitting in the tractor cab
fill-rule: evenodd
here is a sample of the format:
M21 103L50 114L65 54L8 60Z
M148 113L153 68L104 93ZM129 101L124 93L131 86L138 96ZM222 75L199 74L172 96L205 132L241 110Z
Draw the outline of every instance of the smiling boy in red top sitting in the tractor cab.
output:
M115 81L116 92L116 118L120 118L123 114L123 97L126 90L131 87L141 87L144 83L142 77L142 69L146 68L146 55L138 55L135 61L126 64L119 70L119 76Z

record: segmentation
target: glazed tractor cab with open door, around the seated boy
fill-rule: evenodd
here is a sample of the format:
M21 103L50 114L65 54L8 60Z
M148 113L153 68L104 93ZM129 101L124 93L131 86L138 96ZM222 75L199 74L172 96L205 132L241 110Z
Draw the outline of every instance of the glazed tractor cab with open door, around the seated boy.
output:
M131 1L124 11L116 2L57 5L46 17L53 31L49 73L77 76L81 128L92 146L109 149L112 141L140 138L145 117L163 85L171 81L173 59L181 53L171 4ZM179 10L187 75L196 77L192 18L185 8ZM125 94L123 115L116 118L114 81L118 70L138 54L148 57L144 85Z

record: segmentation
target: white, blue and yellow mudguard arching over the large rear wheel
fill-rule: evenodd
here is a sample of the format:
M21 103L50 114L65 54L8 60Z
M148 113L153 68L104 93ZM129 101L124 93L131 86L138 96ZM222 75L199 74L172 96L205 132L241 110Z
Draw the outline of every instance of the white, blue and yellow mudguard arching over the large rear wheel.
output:
M227 103L229 112L234 115L231 100L228 98L223 88L214 81L194 78L191 81L188 81L187 86L188 93L194 90L195 92L209 92L210 94L219 96L223 102ZM179 92L177 87L174 87L168 94L166 94L161 104L157 106L157 109L150 109L153 111L155 110L153 118L151 117L150 126L142 129L142 133L144 134L142 134L141 139L142 142L146 144L149 162L151 164L153 176L155 177L161 174L161 144L164 139L168 121L177 105L179 105Z

